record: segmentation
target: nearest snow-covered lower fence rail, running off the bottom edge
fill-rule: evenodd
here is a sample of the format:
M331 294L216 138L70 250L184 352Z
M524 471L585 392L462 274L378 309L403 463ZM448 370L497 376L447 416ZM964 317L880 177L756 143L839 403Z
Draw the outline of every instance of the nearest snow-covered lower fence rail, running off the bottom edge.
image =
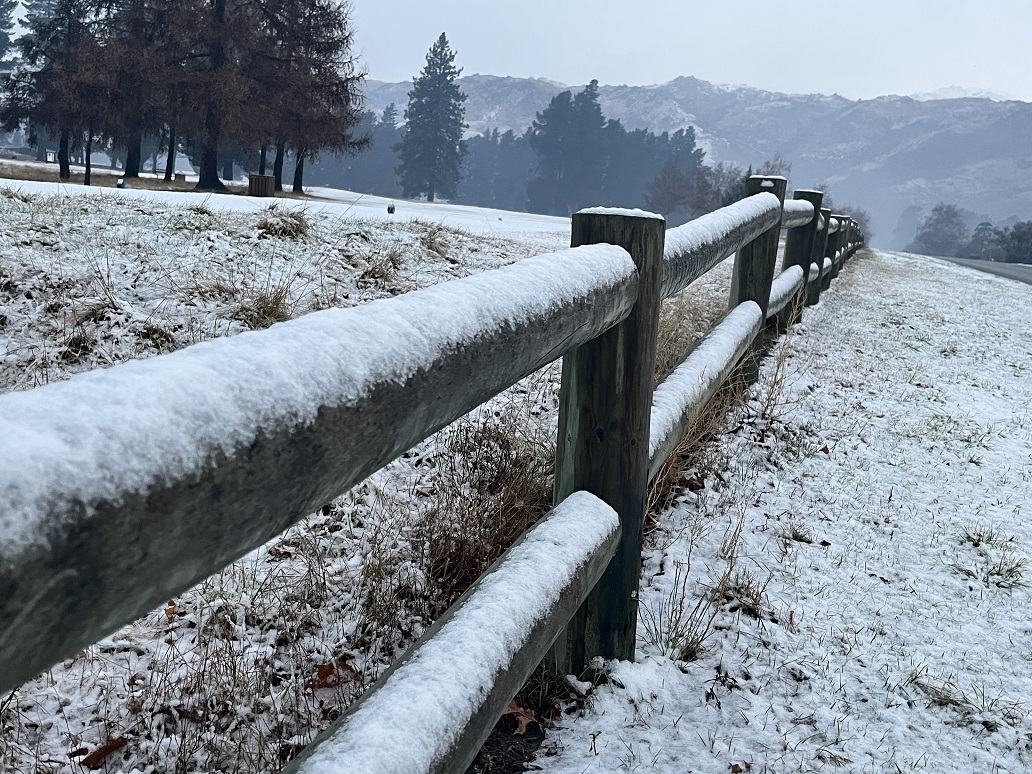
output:
M612 557L619 528L598 497L570 495L288 772L463 771L525 679L509 674L513 663L529 675L544 657ZM471 734L480 715L489 721ZM463 734L477 738L463 743Z

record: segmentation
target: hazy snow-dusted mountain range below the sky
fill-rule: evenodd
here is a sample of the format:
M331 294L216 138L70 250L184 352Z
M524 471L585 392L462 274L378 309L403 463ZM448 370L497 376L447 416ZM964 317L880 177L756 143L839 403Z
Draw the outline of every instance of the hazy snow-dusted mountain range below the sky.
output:
M466 123L477 133L522 132L553 96L582 88L496 75L467 75L459 86L469 95ZM404 110L411 88L366 80L366 106L379 112L394 102ZM1032 103L918 96L850 100L691 76L600 87L606 117L628 129L694 126L708 163L745 167L780 154L793 163L793 186L827 184L836 202L870 212L880 246L902 248L939 201L995 222L1032 218Z

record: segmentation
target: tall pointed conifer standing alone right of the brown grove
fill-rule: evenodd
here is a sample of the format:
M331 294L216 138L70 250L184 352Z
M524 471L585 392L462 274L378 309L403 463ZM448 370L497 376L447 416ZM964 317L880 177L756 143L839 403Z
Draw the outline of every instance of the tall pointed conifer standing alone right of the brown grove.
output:
M406 127L398 144L397 174L405 196L455 196L463 154L465 95L456 83L455 52L445 33L430 47L426 65L413 80Z

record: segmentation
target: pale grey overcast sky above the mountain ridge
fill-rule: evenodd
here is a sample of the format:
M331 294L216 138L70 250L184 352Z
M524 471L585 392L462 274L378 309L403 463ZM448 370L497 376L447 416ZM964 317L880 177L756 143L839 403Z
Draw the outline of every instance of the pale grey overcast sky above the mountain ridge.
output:
M1032 101L1032 0L352 0L377 80L445 32L463 74L578 86L695 75L866 99L959 86Z

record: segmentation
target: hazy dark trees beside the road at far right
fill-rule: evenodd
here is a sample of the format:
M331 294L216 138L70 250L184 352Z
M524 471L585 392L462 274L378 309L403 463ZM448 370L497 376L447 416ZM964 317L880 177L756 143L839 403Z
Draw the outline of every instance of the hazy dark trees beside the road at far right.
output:
M999 228L982 221L969 230L956 204L936 204L906 249L926 255L1032 263L1032 221Z

